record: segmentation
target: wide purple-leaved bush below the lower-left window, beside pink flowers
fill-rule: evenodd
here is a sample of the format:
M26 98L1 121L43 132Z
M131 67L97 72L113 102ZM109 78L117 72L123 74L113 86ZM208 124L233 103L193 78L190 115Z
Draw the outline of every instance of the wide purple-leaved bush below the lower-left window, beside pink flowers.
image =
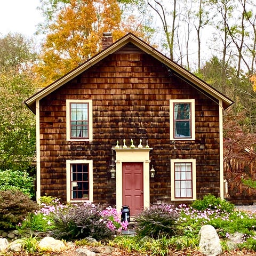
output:
M66 240L87 236L100 241L110 239L114 231L107 227L107 217L104 219L100 214L104 208L103 205L86 202L60 210L54 215L53 236Z

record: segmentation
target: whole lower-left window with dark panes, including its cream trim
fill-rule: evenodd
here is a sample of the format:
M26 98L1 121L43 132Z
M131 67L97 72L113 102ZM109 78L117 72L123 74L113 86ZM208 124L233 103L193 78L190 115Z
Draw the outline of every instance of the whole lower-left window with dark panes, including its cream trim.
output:
M92 161L67 160L67 202L92 201Z

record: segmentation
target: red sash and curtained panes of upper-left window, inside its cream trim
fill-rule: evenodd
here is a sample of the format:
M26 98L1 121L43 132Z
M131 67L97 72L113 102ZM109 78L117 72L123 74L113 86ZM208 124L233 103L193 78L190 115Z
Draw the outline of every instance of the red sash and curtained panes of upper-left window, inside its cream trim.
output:
M70 137L89 139L89 103L70 103Z

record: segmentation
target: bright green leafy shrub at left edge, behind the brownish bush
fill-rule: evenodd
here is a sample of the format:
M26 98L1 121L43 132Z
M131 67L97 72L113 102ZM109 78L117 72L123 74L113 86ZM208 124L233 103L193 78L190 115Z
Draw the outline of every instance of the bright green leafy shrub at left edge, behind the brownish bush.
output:
M0 190L20 190L31 198L34 196L34 180L26 171L0 170Z

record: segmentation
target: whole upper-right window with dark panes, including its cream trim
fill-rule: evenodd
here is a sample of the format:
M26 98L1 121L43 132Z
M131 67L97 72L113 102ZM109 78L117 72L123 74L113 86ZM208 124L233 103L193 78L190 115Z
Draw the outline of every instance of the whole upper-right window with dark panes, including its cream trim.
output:
M195 140L195 100L170 100L170 139Z

